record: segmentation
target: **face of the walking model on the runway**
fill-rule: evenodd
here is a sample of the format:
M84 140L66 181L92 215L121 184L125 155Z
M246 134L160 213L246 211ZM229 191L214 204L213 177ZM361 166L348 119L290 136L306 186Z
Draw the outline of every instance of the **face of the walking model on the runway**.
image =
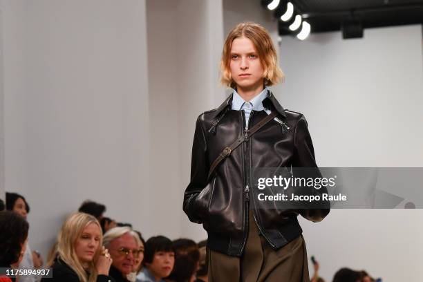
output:
M264 69L252 41L238 37L232 41L230 64L232 79L238 88L251 90L263 86Z

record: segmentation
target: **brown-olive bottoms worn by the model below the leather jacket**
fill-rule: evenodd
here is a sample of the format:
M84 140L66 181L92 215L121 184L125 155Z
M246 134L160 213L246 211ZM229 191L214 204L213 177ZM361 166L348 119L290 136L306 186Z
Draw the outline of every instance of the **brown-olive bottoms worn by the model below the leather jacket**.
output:
M209 282L310 282L302 235L275 251L259 234L251 211L248 225L241 258L207 249Z

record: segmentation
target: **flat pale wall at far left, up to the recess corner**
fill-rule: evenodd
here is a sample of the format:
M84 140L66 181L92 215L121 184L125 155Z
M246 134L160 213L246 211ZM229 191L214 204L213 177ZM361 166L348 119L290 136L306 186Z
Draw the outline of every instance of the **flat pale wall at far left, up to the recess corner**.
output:
M6 191L46 252L86 198L150 224L144 1L4 1Z

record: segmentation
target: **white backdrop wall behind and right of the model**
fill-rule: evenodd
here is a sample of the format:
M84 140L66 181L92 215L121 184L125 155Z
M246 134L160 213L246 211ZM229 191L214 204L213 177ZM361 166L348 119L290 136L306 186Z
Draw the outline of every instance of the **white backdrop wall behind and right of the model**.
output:
M259 1L225 0L223 8L225 34L256 21L276 44L276 20ZM341 32L281 38L286 80L273 89L285 109L308 119L321 167L423 167L422 50L421 25L369 29L363 39L343 40ZM341 267L420 281L422 218L422 210L332 210L321 223L301 225L326 281Z

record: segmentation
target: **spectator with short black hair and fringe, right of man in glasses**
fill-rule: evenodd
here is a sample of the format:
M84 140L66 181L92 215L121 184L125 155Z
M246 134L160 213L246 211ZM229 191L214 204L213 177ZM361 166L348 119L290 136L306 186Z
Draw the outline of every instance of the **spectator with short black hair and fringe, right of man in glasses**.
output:
M169 276L175 263L172 241L164 236L149 238L145 243L144 268L137 276L137 282L163 282Z

